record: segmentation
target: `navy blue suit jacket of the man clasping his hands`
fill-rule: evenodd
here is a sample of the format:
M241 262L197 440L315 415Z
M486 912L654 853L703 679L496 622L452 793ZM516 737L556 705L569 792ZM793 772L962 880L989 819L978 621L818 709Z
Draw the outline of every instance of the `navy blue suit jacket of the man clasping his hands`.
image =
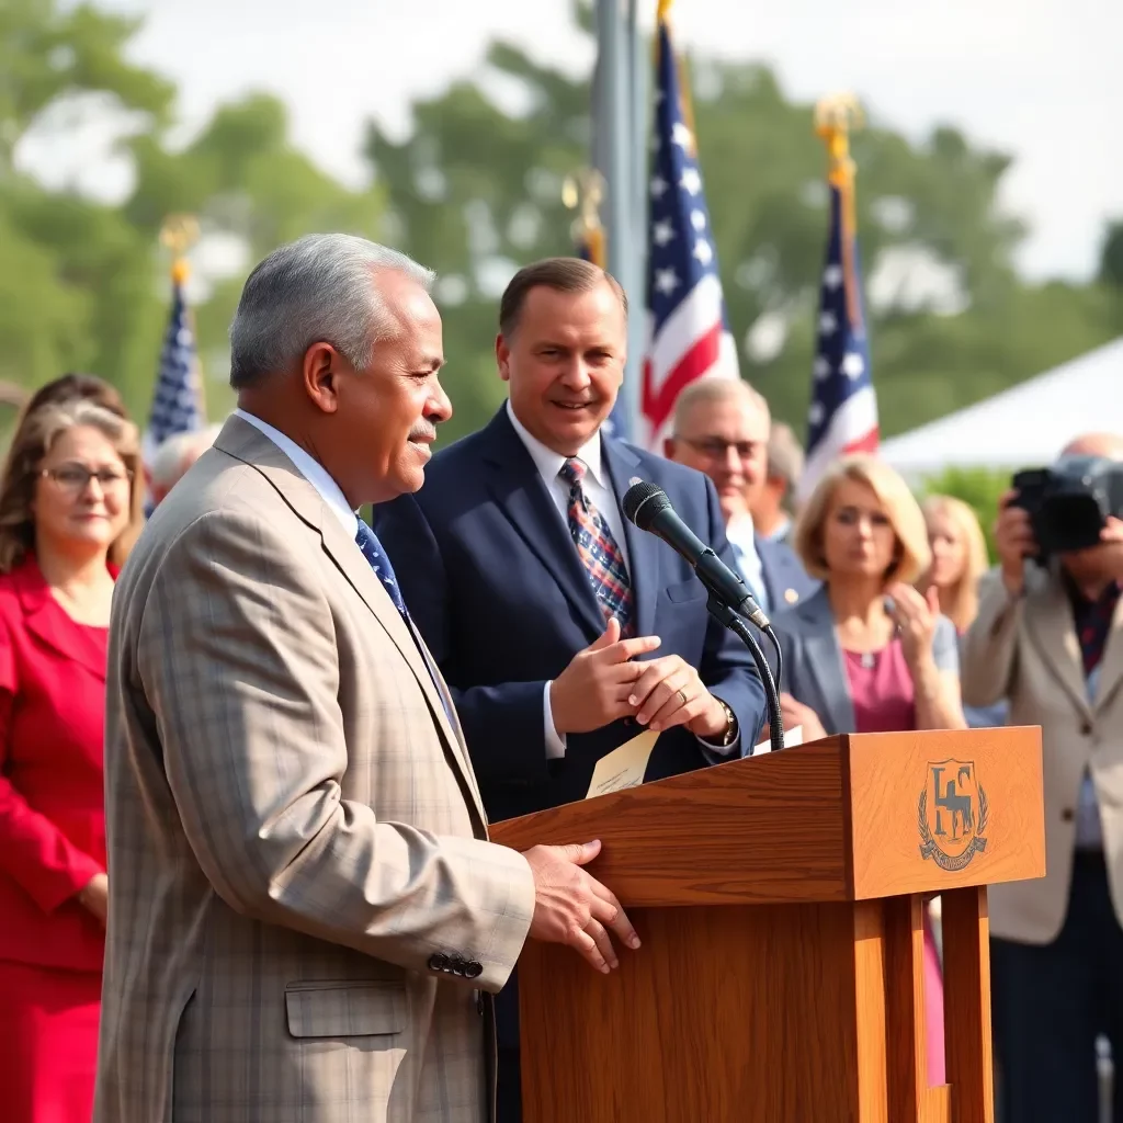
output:
M733 564L710 481L602 436L618 502L632 476L658 484L694 532ZM741 641L712 620L690 566L627 520L637 634L659 636L650 657L676 654L737 715L742 752L764 722L760 681ZM424 486L380 505L374 529L413 620L456 701L492 821L585 797L596 761L641 732L631 719L570 733L547 760L542 695L604 631L604 619L564 519L504 405L480 432L440 451ZM646 779L707 761L685 729L659 737Z

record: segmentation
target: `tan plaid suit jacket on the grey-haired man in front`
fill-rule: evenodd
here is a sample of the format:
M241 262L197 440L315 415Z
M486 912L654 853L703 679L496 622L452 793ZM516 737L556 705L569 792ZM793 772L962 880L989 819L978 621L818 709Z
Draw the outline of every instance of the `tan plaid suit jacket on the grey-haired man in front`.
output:
M125 566L109 663L97 1123L486 1119L475 988L529 867L358 547L241 419Z

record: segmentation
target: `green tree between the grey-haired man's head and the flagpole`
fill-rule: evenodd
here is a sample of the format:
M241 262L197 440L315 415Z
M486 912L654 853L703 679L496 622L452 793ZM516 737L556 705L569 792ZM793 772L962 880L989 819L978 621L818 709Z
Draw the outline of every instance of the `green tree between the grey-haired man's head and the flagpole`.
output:
M564 177L588 147L588 91L494 44L487 66L522 86L529 108L503 112L476 81L413 106L395 143L375 124L366 153L386 193L395 245L441 274L438 302L456 413L449 436L477 429L503 398L492 344L502 285L537 257L573 252Z

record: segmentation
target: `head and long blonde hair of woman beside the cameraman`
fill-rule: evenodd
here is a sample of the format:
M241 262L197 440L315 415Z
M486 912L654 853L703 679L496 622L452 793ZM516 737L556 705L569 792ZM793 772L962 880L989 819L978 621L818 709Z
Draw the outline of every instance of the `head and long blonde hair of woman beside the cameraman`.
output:
M935 588L940 611L962 636L975 622L979 578L989 567L983 528L975 512L955 495L929 495L922 510L932 563L919 588L922 593Z

